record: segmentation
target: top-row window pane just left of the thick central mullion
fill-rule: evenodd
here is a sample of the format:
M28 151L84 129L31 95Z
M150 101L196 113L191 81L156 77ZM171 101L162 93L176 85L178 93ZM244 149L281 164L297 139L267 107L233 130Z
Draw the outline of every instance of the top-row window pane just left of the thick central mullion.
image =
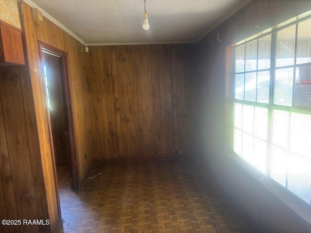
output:
M258 40L258 69L270 68L271 35Z

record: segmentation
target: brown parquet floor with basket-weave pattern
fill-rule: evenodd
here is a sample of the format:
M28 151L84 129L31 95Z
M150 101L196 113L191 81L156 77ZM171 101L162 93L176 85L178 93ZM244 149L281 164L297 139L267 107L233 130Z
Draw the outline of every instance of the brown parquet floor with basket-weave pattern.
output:
M256 233L200 161L184 157L96 163L82 189L58 167L60 233Z

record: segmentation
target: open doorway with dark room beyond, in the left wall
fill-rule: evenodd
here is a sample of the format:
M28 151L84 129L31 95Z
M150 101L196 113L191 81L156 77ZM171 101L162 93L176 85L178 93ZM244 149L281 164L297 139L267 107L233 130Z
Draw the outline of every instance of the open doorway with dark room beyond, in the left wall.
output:
M39 41L39 52L52 146L56 197L60 205L57 166L67 166L71 189L79 188L67 52L42 41Z

